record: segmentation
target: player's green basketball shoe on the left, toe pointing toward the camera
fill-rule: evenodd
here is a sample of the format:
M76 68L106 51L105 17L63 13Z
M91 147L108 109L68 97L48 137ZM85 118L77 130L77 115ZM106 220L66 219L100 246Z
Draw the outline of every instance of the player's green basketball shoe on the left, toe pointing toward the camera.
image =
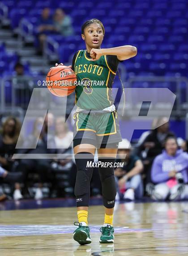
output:
M90 228L88 226L82 226L82 223L74 222L78 228L73 233L73 239L80 245L91 243Z

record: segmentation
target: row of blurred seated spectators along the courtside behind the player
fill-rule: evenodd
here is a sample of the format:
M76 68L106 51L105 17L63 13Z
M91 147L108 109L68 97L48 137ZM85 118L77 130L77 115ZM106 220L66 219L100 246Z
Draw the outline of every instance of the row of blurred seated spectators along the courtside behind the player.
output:
M154 121L160 125L165 119L162 117ZM7 196L15 200L73 197L77 172L74 159L12 158L14 153L72 154L73 132L64 123L64 118L55 119L52 113L48 113L43 122L43 118L38 117L31 134L22 141L22 148L16 149L20 129L21 123L16 117L7 117L0 130L1 200ZM50 134L47 134L48 129ZM34 148L37 139L37 147ZM144 132L133 146L123 139L119 143L116 162L123 162L124 166L115 168L116 199L132 201L144 196L154 200L188 198L187 151L187 141L176 138L168 121L157 129ZM91 194L101 195L97 168L94 168L91 180Z

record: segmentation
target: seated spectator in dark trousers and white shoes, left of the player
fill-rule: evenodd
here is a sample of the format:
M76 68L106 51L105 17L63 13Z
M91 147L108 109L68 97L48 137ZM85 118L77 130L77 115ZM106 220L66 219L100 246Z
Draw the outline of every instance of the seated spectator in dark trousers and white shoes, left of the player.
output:
M52 116L52 114L51 114ZM46 117L45 120L48 118ZM46 133L47 121L43 124L43 118L38 117L34 122L34 128L31 135L24 141L23 148L19 153L32 153L32 154L48 154L55 153L55 141L53 135ZM35 146L37 144L37 146ZM36 148L35 148L36 147ZM23 179L26 182L29 172L37 172L39 175L38 189L36 189L35 199L43 198L43 182L47 181L50 171L50 159L21 159L18 169L23 173ZM16 184L16 189L13 194L15 200L21 199L21 187Z

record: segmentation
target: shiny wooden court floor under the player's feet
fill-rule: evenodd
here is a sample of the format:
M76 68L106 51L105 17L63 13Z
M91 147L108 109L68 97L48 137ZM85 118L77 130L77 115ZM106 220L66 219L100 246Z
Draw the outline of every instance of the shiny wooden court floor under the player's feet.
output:
M0 211L0 256L188 256L188 203L115 206L115 243L100 245L103 206L91 206L92 243L73 240L74 207Z

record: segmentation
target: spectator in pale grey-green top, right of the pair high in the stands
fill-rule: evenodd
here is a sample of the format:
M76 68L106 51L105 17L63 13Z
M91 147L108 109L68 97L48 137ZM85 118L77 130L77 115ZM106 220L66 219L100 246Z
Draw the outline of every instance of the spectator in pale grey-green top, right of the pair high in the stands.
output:
M71 17L66 15L60 8L56 9L54 14L54 25L56 27L56 31L59 32L62 36L73 35Z

